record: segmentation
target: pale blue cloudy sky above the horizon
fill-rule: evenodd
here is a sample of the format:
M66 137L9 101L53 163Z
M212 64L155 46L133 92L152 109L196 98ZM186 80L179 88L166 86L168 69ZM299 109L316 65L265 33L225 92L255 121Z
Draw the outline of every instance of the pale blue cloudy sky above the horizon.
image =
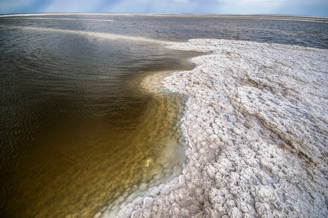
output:
M229 13L328 17L328 0L0 0L9 13Z

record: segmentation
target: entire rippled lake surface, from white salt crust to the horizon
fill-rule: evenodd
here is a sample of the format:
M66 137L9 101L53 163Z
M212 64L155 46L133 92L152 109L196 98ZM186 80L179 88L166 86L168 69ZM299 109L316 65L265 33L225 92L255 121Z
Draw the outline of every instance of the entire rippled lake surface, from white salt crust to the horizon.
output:
M169 42L327 36L328 19L293 16L0 17L0 216L93 217L181 170L185 98L151 84L199 54Z

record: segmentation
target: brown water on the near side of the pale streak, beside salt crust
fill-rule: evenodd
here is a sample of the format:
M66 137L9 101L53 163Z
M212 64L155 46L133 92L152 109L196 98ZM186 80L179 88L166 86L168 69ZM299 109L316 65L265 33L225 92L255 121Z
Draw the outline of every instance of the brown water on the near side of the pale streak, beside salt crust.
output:
M1 217L93 217L181 172L185 99L143 81L192 68L195 53L49 28L1 31Z

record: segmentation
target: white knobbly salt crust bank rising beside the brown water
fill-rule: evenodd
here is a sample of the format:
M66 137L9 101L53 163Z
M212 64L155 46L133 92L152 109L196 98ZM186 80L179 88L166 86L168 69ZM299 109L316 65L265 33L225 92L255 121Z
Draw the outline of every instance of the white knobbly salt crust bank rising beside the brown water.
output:
M193 39L182 174L102 217L327 217L328 51Z

